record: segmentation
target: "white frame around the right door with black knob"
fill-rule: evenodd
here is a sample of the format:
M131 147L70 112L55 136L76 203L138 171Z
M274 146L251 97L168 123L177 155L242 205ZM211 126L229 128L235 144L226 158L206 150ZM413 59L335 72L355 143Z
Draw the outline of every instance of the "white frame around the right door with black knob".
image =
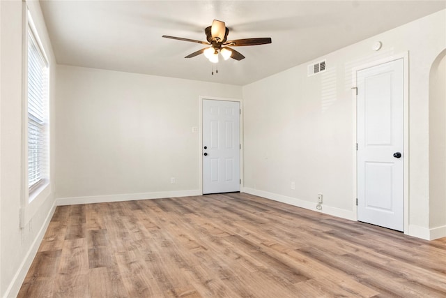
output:
M356 66L352 68L352 96L353 96L353 220L357 221L357 71L364 70L366 68L371 68L378 66L380 64L385 64L387 62L395 61L398 59L403 59L403 152L404 152L404 162L403 162L403 204L404 204L404 234L408 234L409 230L409 53L401 52L400 54L394 54L390 57L383 59L378 59L368 64L361 66Z

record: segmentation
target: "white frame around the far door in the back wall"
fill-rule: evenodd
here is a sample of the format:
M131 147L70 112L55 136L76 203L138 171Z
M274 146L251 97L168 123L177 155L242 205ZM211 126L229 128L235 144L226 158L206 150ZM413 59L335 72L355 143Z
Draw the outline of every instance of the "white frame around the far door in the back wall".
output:
M235 101L240 104L240 193L243 193L243 100L215 96L199 96L199 191L203 195L203 100Z

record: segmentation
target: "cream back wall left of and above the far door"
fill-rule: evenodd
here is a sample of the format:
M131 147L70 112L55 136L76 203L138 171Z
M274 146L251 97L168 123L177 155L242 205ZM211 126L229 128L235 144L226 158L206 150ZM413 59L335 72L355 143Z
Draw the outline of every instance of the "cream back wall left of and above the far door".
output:
M169 77L72 66L57 74L59 204L199 194L199 96L242 96L241 87Z

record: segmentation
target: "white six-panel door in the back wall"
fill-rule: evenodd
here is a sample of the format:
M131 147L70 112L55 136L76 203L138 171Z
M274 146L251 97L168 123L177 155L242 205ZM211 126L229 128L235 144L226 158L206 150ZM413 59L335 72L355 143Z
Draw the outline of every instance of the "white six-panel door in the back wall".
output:
M203 193L240 191L240 103L203 100Z

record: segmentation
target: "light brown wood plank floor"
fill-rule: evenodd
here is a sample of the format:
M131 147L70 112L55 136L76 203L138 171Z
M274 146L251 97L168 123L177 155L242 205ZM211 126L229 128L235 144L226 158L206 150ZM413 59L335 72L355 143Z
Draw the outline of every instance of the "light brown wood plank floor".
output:
M243 193L64 206L19 297L446 297L446 238Z

